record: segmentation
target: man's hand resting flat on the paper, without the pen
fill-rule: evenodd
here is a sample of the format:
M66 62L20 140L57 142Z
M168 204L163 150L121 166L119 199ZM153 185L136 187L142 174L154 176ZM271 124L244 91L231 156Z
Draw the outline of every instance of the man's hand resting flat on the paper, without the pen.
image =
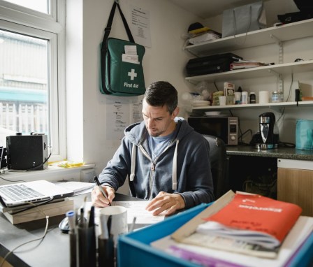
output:
M181 210L184 206L184 199L180 194L159 192L145 209L148 211L154 210L152 212L153 215L159 215L164 210L166 210L165 215L172 215L176 210Z

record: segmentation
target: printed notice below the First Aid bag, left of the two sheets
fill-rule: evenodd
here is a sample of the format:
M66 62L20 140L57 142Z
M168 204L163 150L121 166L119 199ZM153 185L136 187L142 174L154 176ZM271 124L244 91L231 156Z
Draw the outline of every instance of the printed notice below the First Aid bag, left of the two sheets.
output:
M129 125L129 101L107 99L106 136L108 140L121 140L124 129Z

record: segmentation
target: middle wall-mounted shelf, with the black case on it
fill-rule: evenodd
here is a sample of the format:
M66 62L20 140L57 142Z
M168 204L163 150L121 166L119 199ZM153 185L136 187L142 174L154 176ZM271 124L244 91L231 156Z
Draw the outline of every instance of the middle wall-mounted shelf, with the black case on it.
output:
M220 73L186 77L185 79L191 83L197 84L198 82L201 82L203 80L206 80L208 82L219 82L225 80L238 80L242 79L243 77L245 79L263 78L273 75L272 72L279 74L289 74L302 73L307 71L313 71L313 60L276 64L271 66L260 66L256 68L242 68L235 71L226 71Z

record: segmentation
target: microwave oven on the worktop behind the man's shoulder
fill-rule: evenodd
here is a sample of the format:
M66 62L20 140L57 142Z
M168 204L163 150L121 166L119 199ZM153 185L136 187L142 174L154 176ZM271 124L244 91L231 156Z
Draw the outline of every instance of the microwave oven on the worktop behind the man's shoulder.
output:
M238 117L188 117L188 123L198 133L217 136L226 145L238 145Z

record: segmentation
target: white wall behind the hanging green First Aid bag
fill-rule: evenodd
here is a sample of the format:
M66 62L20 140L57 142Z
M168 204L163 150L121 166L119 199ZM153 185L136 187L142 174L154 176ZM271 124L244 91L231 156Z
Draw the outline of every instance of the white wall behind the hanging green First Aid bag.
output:
M105 103L118 97L99 91L100 45L112 3L112 0L67 1L68 159L96 164L97 174L120 143L106 136ZM156 80L168 80L179 92L188 92L183 70L190 55L182 50L181 35L187 32L189 24L198 20L166 0L122 0L120 6L129 25L131 5L150 13L152 48L146 48L143 60L146 86ZM127 40L117 11L110 37ZM133 97L126 99L131 102ZM183 110L180 115L184 116Z

